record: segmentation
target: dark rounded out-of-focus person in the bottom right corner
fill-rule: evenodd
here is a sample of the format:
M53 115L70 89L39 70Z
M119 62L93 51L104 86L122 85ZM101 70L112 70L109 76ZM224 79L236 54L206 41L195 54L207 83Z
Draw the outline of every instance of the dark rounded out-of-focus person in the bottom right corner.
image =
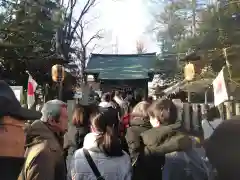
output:
M238 180L240 177L239 137L240 118L224 121L205 143L206 155L217 171L218 180Z

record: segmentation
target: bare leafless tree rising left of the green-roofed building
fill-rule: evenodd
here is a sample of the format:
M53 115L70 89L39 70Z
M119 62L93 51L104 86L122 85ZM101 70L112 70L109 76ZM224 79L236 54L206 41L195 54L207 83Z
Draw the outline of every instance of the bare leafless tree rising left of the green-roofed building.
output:
M74 11L79 11L76 7L76 1L68 0L67 7L64 7L66 9L63 13L64 25L56 32L56 51L65 60L75 59L75 63L80 65L79 73L77 73L78 78L81 79L81 83L86 83L87 77L84 76L84 70L86 68L88 46L93 40L100 39L102 36L101 30L99 30L89 39L86 39L86 26L94 19L87 21L85 17L98 0L87 0L78 18L73 17ZM63 2L61 4L59 2L59 6L63 7ZM80 46L75 46L75 43L80 44ZM71 57L73 54L75 54L75 58Z

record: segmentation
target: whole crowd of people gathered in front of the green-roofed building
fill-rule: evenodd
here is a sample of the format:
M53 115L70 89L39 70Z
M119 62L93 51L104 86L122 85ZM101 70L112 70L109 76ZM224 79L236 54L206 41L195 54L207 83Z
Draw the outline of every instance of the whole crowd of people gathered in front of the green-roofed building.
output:
M22 107L0 81L0 105L1 180L240 177L240 118L216 122L214 107L202 137L195 137L182 128L170 99L105 93L100 102L77 104L68 117L60 100L46 102L41 112Z

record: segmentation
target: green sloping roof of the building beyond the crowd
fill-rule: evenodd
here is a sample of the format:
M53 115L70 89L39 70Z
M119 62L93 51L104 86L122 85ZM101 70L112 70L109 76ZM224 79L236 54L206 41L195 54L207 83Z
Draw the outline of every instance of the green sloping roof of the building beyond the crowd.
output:
M88 74L99 74L99 79L147 79L153 72L156 54L92 54Z

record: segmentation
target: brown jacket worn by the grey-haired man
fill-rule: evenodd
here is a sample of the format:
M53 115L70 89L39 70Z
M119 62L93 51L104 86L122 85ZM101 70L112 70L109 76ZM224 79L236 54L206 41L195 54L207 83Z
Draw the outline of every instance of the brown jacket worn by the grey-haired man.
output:
M66 180L63 148L41 121L27 131L26 162L18 180Z

